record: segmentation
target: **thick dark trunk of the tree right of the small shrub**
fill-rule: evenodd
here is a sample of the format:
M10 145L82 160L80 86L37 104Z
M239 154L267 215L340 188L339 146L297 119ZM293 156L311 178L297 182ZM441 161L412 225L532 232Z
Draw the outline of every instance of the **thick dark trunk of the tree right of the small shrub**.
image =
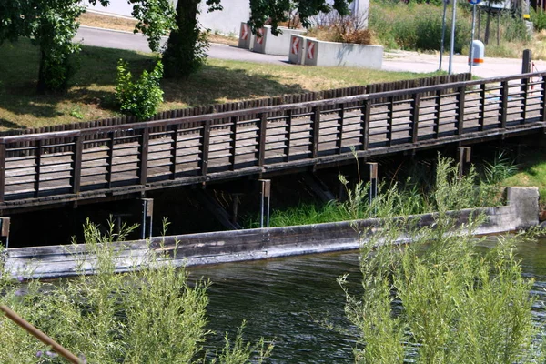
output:
M184 77L202 66L207 57L207 43L199 36L197 6L201 0L178 0L177 30L170 33L163 55L166 77Z

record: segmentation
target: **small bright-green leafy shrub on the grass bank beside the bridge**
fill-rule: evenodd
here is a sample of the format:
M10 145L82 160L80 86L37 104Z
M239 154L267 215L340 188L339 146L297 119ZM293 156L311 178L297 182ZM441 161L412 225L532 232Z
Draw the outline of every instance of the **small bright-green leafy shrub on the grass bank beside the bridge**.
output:
M163 91L159 82L163 76L163 64L157 61L152 72L142 72L134 82L127 63L120 59L117 62L116 101L122 113L136 116L139 121L154 116L157 106L163 101Z

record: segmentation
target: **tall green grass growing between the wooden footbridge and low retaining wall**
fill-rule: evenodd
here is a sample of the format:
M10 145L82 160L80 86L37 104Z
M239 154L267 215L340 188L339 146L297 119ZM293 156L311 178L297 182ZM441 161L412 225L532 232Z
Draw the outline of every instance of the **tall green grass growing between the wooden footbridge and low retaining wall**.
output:
M273 210L269 225L286 227L369 217L409 216L442 209L498 206L502 203L501 181L515 171L513 163L500 155L486 163L480 173L471 167L468 173L459 177L458 165L450 158L439 157L436 178L430 186L423 185L418 176L409 177L403 183L391 182L390 185L383 181L379 184L378 196L371 202L369 183L359 180L350 184L346 177L340 176L346 190L345 200L332 200L322 206L305 204ZM259 227L259 223L249 220L245 226Z

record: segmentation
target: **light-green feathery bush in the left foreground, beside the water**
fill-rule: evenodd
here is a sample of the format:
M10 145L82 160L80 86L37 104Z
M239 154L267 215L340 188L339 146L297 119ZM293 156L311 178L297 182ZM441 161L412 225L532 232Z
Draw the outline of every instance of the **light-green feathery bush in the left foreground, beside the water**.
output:
M205 329L208 282L190 285L185 269L166 262L163 253L150 253L138 262L144 263L139 272L116 274L117 248L123 243L113 242L123 240L131 228L116 235L110 224L106 234L101 234L98 227L86 224L86 248L96 255L96 261L80 259L79 263L81 268L92 268L94 276L84 275L82 269L76 278L32 280L22 285L0 267L0 302L82 362L190 363L208 358L219 363L245 363L268 357L271 344L260 340L247 345L242 331L218 353L207 355L202 344L209 334ZM0 326L0 362L64 362L4 315Z

